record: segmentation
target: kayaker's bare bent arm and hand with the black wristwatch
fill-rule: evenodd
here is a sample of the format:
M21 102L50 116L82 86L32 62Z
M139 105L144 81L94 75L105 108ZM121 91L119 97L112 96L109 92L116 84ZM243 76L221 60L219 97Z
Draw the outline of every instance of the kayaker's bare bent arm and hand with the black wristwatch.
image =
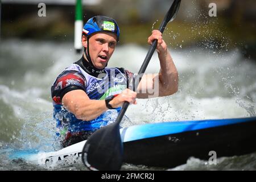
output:
M130 102L130 104L137 104L136 96L136 92L125 89L121 94L114 97L109 104L114 108L122 106L125 101ZM91 121L108 110L105 100L90 100L84 90L67 92L62 98L62 104L65 109L75 114L77 119L83 121Z

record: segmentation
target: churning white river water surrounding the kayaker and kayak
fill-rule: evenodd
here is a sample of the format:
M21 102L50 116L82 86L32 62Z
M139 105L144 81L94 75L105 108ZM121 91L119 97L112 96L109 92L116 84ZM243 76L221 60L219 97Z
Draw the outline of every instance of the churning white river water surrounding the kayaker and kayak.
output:
M8 156L14 150L55 149L50 87L56 76L81 55L74 53L72 43L16 39L2 41L0 47L0 170L40 169L27 163L17 165ZM256 115L255 61L246 60L236 49L214 52L192 47L170 51L179 72L179 91L129 106L126 115L132 125ZM146 53L146 48L137 45L120 46L108 66L137 72ZM156 54L146 72L159 72ZM141 168L151 169L123 167ZM57 169L84 168L79 164ZM225 158L217 166L191 158L174 169L256 169L256 162L255 155Z

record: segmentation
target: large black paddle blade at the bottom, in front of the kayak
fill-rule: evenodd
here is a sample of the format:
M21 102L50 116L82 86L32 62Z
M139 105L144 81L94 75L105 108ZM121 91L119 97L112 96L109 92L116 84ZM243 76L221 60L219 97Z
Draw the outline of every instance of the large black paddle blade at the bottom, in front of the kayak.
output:
M82 149L82 162L90 170L117 171L122 166L123 146L118 123L93 133Z

